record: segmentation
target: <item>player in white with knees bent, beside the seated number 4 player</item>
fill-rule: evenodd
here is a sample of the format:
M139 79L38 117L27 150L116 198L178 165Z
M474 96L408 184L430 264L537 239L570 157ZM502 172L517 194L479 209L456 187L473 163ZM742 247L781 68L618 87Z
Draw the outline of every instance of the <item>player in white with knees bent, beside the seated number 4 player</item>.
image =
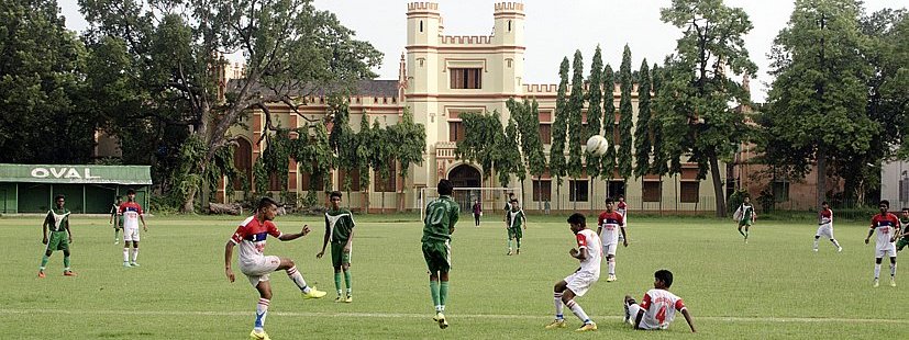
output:
M577 249L572 248L568 254L580 261L580 268L553 287L555 320L546 325L546 329L566 327L562 309L563 306L568 306L568 309L572 309L572 313L584 321L584 326L576 331L597 330L597 324L591 321L590 317L584 313L584 308L575 302L575 296L584 296L587 290L600 279L600 261L602 259L600 237L594 230L587 229L586 218L583 214L574 213L568 216L568 226L577 240Z

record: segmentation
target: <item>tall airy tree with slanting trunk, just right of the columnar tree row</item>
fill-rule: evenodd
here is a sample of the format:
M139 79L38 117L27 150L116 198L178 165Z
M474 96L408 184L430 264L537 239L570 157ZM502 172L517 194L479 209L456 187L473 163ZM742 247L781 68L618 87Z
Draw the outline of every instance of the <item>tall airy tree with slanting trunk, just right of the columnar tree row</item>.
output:
M673 155L670 171L680 171L681 155L697 162L698 179L709 170L717 216L725 216L720 159L731 159L744 131L743 116L733 107L749 103L749 93L730 75L757 70L743 39L753 26L744 10L722 0L673 0L659 13L681 30L655 102L664 146Z

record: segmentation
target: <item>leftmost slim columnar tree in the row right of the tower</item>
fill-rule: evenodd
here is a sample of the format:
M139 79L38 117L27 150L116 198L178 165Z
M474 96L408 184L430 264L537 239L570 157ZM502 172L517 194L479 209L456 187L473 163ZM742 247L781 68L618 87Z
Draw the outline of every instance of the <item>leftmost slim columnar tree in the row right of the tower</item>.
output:
M556 209L561 209L562 178L565 177L565 138L567 137L568 101L568 57L562 59L558 67L558 92L555 98L555 121L553 122L553 140L550 148L550 175L555 177Z

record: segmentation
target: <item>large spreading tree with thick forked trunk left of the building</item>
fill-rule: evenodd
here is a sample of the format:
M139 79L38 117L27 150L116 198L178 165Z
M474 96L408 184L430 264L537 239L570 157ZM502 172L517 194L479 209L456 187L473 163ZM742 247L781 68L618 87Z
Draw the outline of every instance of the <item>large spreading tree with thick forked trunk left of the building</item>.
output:
M317 10L311 0L80 0L91 24L90 46L104 49L121 67L99 68L97 77L126 78L141 107L113 115L156 115L187 126L188 138L201 140L188 173L206 173L217 152L231 144L230 127L250 110L265 115L263 128L276 129L269 104L282 103L302 120L301 101L317 90L337 89L370 70L381 54L337 18ZM97 50L97 49L96 49ZM92 53L95 53L93 50ZM245 60L244 78L230 82L225 100L218 95L222 54ZM138 116L136 118L142 118ZM323 122L318 122L323 123ZM315 125L310 125L315 126ZM263 134L267 135L267 134ZM182 193L182 211L191 211L198 186Z

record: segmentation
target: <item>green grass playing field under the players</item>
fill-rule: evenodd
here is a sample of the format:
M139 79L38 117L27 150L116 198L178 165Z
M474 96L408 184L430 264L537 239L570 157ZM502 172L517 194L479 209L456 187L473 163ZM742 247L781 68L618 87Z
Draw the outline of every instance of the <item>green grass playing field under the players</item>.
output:
M872 287L873 245L864 223L839 223L844 250L829 242L811 251L810 222L758 220L749 245L733 224L713 218L636 218L631 245L619 249L619 281L603 277L578 303L599 325L574 335L580 322L565 310L569 329L544 330L553 315L552 286L577 268L567 252L573 235L564 217L530 216L520 256L506 257L506 231L486 217L480 228L464 215L454 235L453 270L441 330L433 315L421 225L414 216L358 216L352 273L354 303L333 303L331 260L317 260L323 228L315 217L279 216L285 233L301 219L314 233L271 239L267 254L289 257L307 281L330 292L304 301L281 273L271 275L266 322L273 339L556 339L805 338L890 339L909 333L909 270L897 288ZM151 217L142 234L141 268L121 267L107 218L73 217L73 269L62 276L55 252L47 277L37 279L40 217L0 218L0 338L2 339L245 339L257 294L237 271L224 277L223 251L241 217ZM393 219L393 220L390 220ZM498 217L496 217L498 219ZM592 224L590 224L592 225ZM905 263L905 262L904 262ZM621 297L640 299L653 272L674 272L672 291L691 311L697 335L679 315L666 331L633 331L620 321ZM902 336L899 336L902 335Z

